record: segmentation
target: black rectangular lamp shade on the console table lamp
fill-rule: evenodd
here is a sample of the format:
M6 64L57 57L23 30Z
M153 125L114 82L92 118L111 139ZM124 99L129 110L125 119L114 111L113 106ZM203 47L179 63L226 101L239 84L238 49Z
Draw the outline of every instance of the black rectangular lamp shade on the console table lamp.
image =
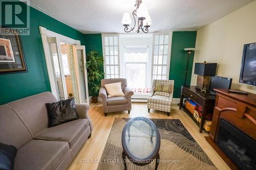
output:
M215 76L217 63L195 63L195 74L200 76Z

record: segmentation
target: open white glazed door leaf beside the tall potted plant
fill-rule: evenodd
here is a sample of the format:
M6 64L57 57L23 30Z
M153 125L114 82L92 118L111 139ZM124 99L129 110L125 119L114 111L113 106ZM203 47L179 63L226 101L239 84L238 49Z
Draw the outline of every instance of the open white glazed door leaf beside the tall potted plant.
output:
M86 66L86 47L84 45L72 45L77 75L77 88L80 103L89 104L88 80Z

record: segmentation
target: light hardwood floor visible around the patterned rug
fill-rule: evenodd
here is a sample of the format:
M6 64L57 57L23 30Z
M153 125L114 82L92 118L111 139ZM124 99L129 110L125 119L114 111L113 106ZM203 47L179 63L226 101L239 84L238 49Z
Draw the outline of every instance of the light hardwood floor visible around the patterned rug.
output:
M195 138L204 152L208 155L210 160L215 164L218 169L230 169L221 157L215 152L210 144L205 140L204 136L208 133L203 131L199 133L199 127L196 123L183 111L179 110L177 104L173 104L172 112L168 117L165 112L151 110L147 113L146 103L132 104L132 111L127 114L127 111L109 113L104 116L101 103L91 104L89 115L93 122L92 137L88 139L83 147L80 149L73 162L69 166L69 170L74 169L97 169L98 161L101 158L105 143L108 140L111 127L115 117L137 117L144 116L148 118L177 118L180 119L182 124L186 127L188 132Z

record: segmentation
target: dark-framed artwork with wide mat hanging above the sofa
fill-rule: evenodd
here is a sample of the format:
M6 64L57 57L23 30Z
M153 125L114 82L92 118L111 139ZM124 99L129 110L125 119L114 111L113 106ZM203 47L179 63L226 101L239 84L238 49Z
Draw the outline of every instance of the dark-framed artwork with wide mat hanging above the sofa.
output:
M27 66L19 35L0 34L0 74L24 71L27 71Z

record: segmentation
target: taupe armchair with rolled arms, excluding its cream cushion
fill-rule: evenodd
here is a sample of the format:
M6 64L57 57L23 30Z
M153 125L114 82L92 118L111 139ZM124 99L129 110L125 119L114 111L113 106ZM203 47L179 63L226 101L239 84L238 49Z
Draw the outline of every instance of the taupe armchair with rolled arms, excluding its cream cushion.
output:
M121 87L125 96L116 96L108 98L108 92L106 92L105 84L122 82ZM110 112L118 112L127 110L128 113L132 110L131 97L134 94L130 87L127 87L126 79L102 79L101 88L99 90L99 96L102 98L103 111L106 116Z

